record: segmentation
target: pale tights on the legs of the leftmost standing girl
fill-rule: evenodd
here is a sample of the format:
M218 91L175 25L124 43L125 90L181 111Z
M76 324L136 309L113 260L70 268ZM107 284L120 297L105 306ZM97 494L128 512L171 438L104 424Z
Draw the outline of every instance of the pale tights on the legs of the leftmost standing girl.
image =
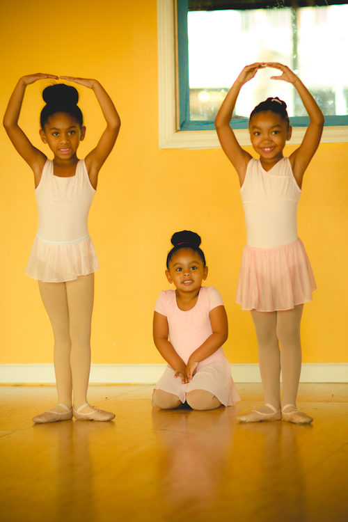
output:
M39 281L42 302L54 333L54 370L58 403L71 408L87 401L90 372L90 324L93 310L94 274L65 283ZM92 408L88 406L84 413Z

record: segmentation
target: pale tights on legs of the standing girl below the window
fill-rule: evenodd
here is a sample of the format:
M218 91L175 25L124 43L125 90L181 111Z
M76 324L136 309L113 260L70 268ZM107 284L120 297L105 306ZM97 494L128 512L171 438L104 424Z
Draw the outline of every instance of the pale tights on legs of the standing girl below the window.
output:
M292 310L258 312L251 317L258 339L258 356L264 402L280 409L280 368L283 377L283 406L296 404L301 373L300 324L303 305ZM280 345L280 349L279 349ZM267 406L259 409L270 413Z

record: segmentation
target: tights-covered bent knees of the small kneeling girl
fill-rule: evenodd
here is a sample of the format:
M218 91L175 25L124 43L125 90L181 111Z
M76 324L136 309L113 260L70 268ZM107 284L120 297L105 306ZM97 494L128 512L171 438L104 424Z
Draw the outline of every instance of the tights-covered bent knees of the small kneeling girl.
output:
M215 395L206 390L192 390L187 393L186 399L187 404L189 404L193 410L214 410L221 406L221 402L216 399ZM155 390L153 393L153 401L157 408L162 410L179 408L182 404L177 395L164 390Z

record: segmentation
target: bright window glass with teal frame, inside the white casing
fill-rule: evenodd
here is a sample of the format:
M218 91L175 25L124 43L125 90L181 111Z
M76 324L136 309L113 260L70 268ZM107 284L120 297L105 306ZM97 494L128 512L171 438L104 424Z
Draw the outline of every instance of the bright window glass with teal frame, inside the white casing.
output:
M288 65L315 97L326 125L348 125L347 2L313 6L298 1L294 7L278 1L274 8L260 8L262 3L177 0L181 130L214 128L233 81L244 65L255 61ZM244 86L233 127L246 128L253 107L269 96L285 100L292 125L308 125L296 90L270 79L277 74L260 70Z

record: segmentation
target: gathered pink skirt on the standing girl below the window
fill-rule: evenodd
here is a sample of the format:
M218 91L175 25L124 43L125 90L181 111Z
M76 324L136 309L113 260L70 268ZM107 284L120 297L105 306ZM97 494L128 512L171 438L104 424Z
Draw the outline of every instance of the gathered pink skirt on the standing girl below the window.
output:
M316 288L301 239L276 248L244 247L236 296L242 310L291 310L312 301Z

